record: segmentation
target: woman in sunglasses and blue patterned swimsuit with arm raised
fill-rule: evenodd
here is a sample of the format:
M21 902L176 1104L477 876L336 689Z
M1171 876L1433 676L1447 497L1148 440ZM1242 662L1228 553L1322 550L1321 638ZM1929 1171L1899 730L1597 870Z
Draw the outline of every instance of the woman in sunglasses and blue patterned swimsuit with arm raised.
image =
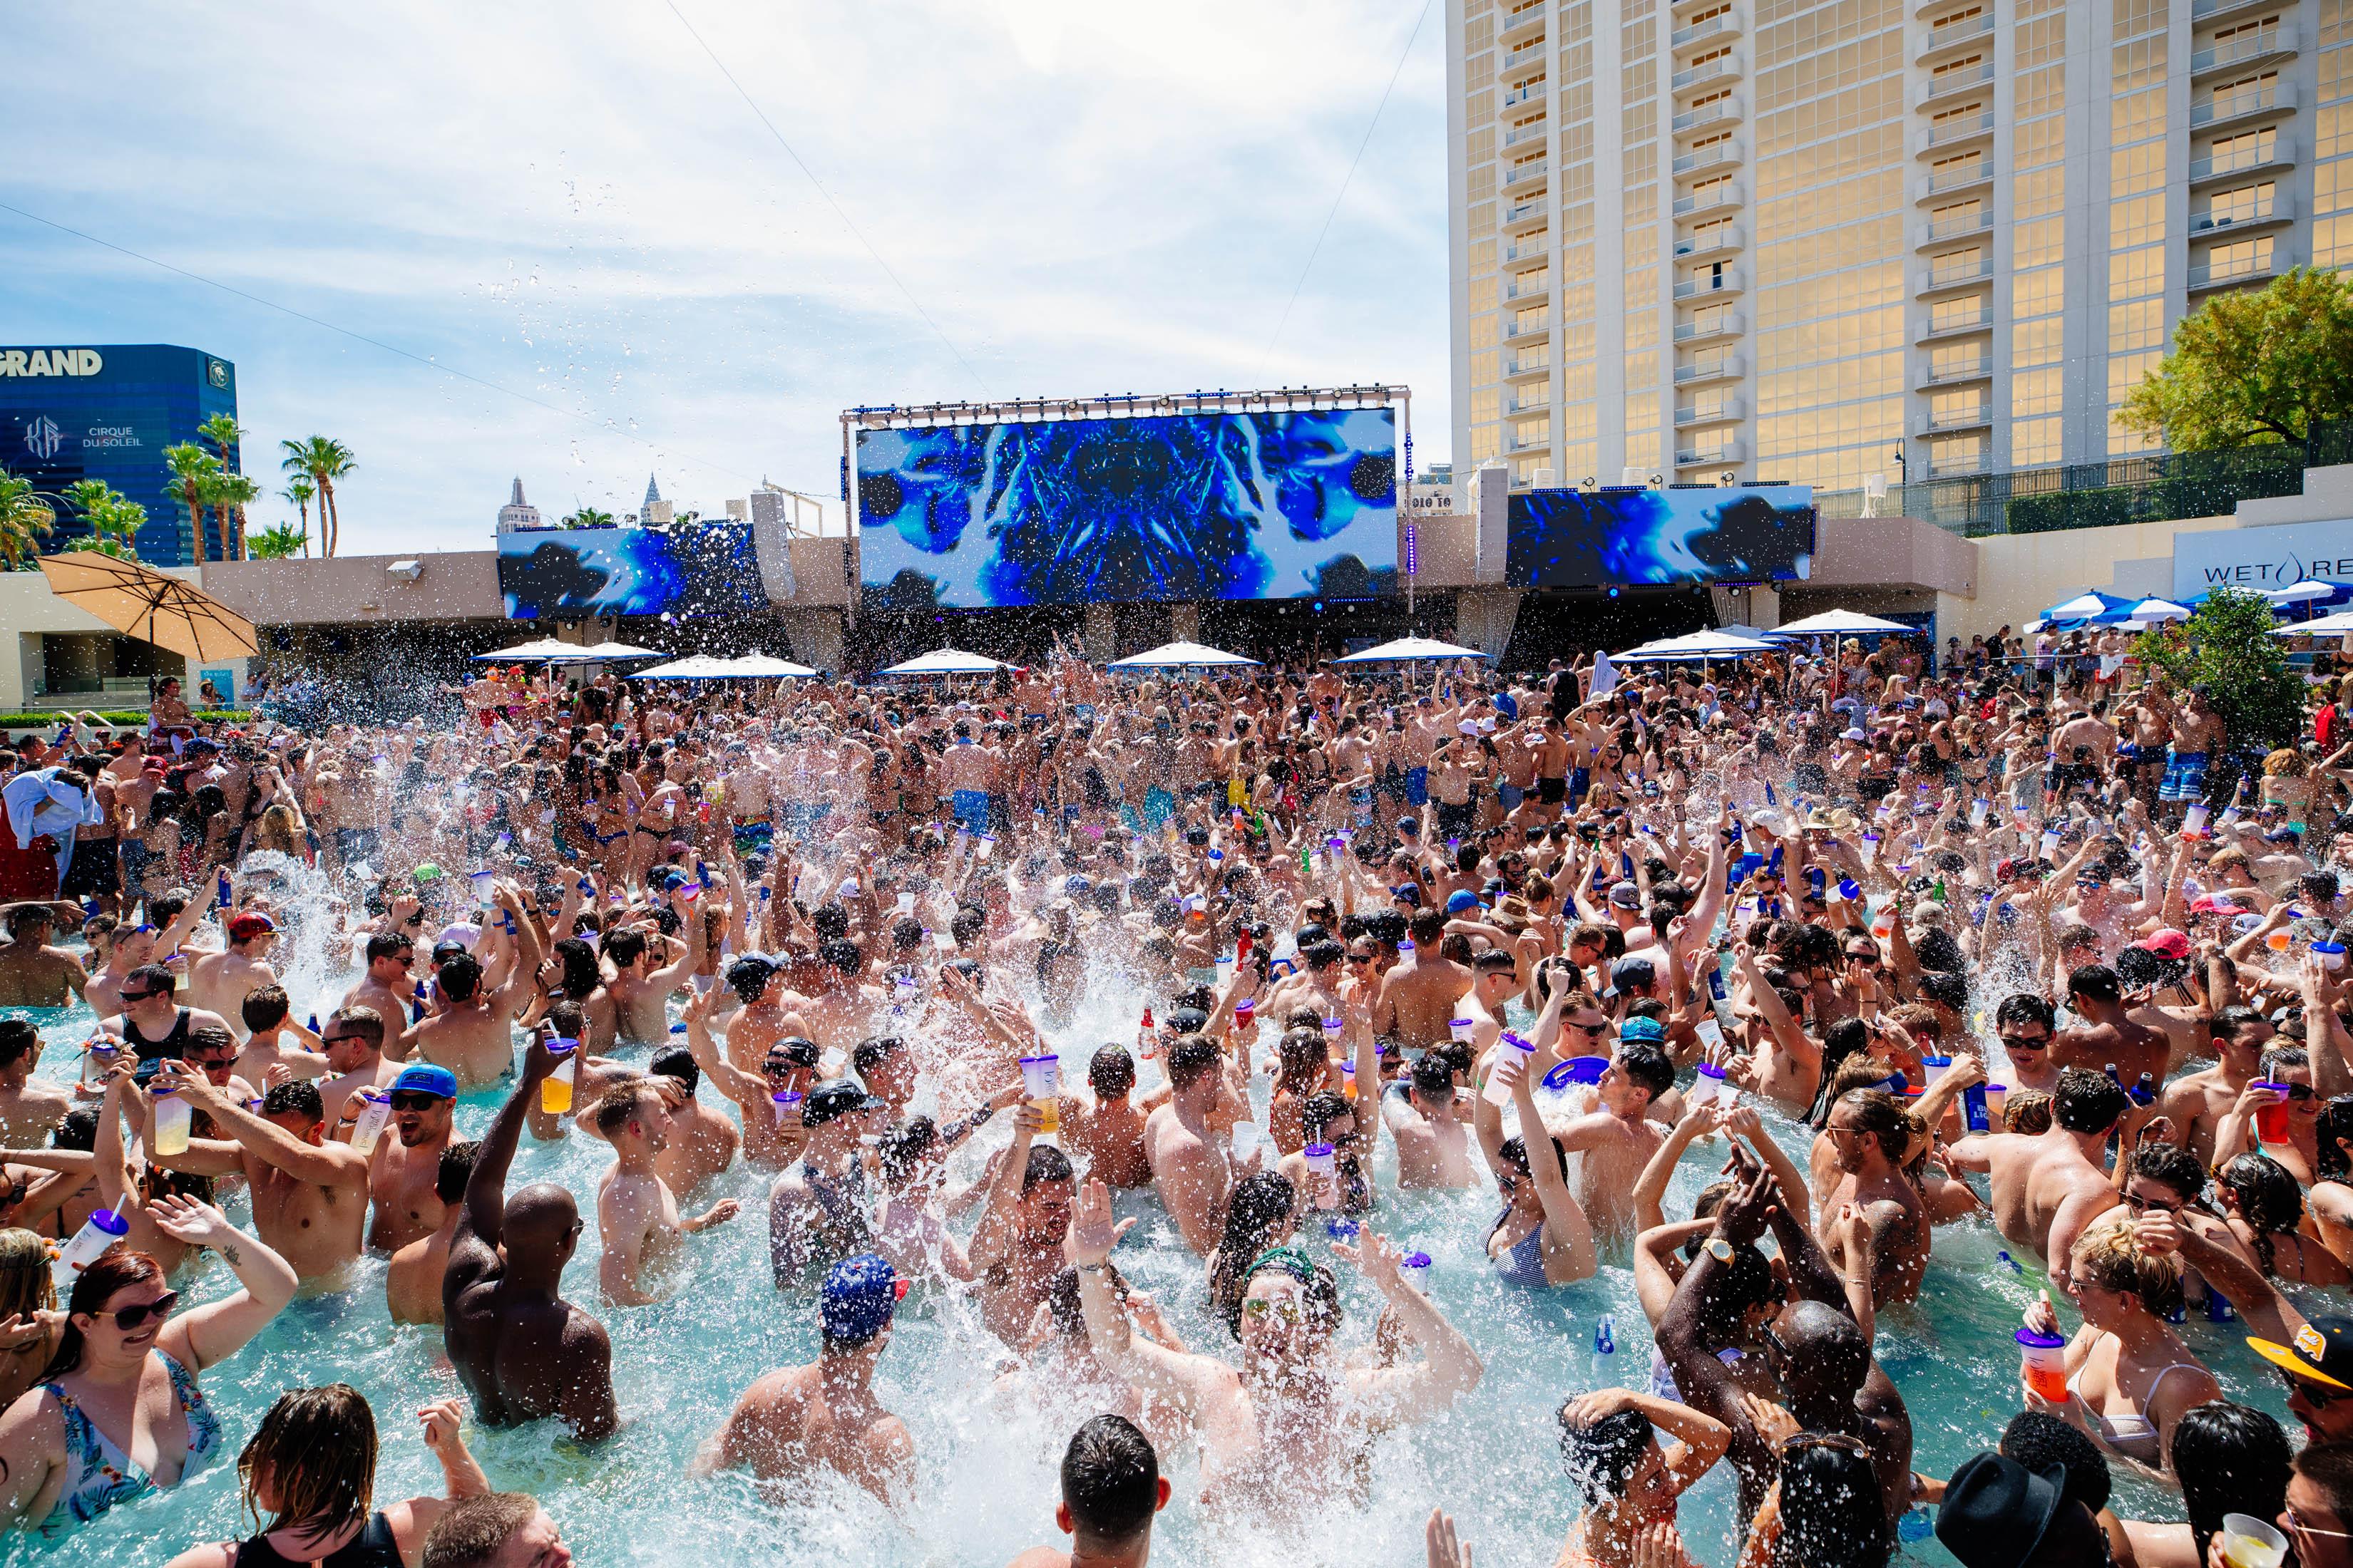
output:
M40 1387L0 1415L0 1526L64 1535L118 1502L179 1486L221 1446L198 1373L245 1347L294 1300L294 1269L198 1199L158 1199L155 1225L207 1246L235 1272L233 1295L179 1316L162 1265L113 1246L66 1300L66 1333ZM132 1460L139 1434L153 1460Z

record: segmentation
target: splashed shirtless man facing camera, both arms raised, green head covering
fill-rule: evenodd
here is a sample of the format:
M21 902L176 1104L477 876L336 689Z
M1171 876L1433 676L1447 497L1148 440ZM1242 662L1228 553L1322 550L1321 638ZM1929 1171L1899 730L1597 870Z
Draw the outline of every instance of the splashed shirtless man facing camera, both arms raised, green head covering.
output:
M1358 1476L1372 1441L1393 1427L1438 1415L1471 1394L1485 1373L1471 1340L1398 1272L1400 1253L1365 1232L1362 1248L1334 1244L1395 1314L1421 1352L1398 1366L1346 1366L1332 1352L1339 1286L1299 1248L1257 1260L1242 1291L1242 1366L1153 1345L1129 1328L1111 1293L1106 1262L1134 1225L1111 1222L1111 1190L1087 1182L1071 1222L1068 1253L1094 1354L1144 1394L1179 1406L1200 1434L1202 1500L1235 1516L1266 1519L1304 1505L1299 1476Z

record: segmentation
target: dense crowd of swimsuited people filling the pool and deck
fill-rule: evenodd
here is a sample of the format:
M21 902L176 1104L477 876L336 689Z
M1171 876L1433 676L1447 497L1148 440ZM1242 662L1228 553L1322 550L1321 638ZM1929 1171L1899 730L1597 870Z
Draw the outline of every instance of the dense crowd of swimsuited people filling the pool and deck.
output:
M66 1535L242 1441L261 1530L174 1563L558 1568L558 1521L492 1486L461 1415L612 1439L612 1314L765 1222L816 1352L741 1389L699 1474L918 1507L875 1382L915 1284L1078 1420L1068 1542L1021 1568L1141 1563L1162 1509L1280 1514L1301 1476L1365 1497L1386 1434L1449 1420L1482 1324L1391 1215L1487 1190L1497 1281L1631 1272L1649 1319L1642 1389L1560 1387L1562 1563L1847 1568L1918 1528L1969 1568L2200 1568L2249 1528L2353 1563L2353 679L2313 677L2308 729L2240 776L2202 689L1948 654L1120 682L1056 649L948 689L753 691L492 670L438 724L158 708L24 736L0 1521ZM299 919L348 990L296 1004L320 884ZM1059 1053L1108 987L1146 1001L1132 1034ZM52 1023L75 997L87 1037ZM525 1138L612 1164L511 1190ZM1713 1180L1668 1213L1694 1164ZM720 1194L739 1168L765 1213ZM1122 1272L1134 1204L1231 1342L1186 1342ZM1875 1345L1981 1288L1939 1265L1955 1227L2052 1291L2014 1420L1927 1474ZM369 1255L466 1394L416 1415L440 1497L379 1507L348 1385L249 1434L207 1403ZM214 1269L235 1288L181 1307ZM2231 1338L2301 1446L2226 1399ZM1715 1469L1722 1516L1678 1514ZM2120 1519L2120 1472L2177 1519ZM1431 1502L1466 1514L1431 1519L1447 1568L1511 1507Z

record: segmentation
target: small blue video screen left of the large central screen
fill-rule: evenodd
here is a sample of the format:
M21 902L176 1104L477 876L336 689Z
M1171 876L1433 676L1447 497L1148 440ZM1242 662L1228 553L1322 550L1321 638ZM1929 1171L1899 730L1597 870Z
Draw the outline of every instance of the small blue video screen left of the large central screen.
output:
M499 592L513 621L767 609L751 524L725 522L501 534Z

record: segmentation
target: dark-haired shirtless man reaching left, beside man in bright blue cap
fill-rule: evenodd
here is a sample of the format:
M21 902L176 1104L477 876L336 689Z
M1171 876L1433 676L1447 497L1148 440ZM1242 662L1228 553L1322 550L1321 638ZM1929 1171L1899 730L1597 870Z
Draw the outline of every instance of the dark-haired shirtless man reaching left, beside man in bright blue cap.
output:
M252 1112L242 1093L228 1093L207 1074L167 1063L155 1074L155 1088L186 1095L228 1138L191 1138L184 1154L151 1159L167 1171L245 1175L261 1239L294 1265L313 1293L339 1288L360 1255L367 1227L367 1157L348 1143L327 1143L318 1086L306 1079L278 1084L261 1095L261 1110ZM153 1124L146 1140L153 1150Z

